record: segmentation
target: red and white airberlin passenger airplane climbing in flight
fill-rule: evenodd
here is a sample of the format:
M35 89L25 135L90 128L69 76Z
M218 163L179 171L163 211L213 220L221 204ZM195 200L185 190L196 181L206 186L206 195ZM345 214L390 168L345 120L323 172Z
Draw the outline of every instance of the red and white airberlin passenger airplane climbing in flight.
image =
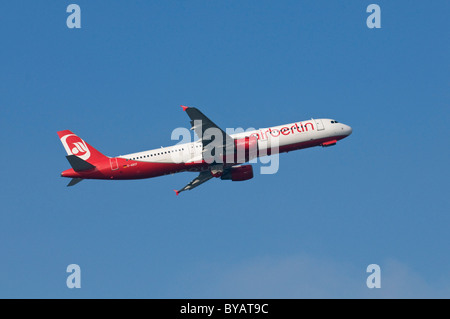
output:
M252 165L242 165L261 156L335 145L352 133L352 128L333 119L311 119L264 129L227 134L200 110L181 105L191 119L198 140L148 151L109 157L70 130L58 136L72 168L61 173L71 178L67 186L84 179L143 179L180 172L198 176L176 195L215 178L245 181L253 178Z

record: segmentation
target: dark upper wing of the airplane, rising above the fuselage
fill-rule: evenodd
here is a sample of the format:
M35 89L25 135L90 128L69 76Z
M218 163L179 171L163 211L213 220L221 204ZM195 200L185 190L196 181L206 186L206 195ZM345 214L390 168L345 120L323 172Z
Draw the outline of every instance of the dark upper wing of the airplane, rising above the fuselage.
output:
M191 119L191 130L194 130L198 138L202 140L204 151L211 142L214 142L214 147L222 147L223 149L234 146L233 138L197 108L183 105L181 107ZM222 137L222 140L215 140L218 135ZM214 136L214 139L212 139L212 136Z

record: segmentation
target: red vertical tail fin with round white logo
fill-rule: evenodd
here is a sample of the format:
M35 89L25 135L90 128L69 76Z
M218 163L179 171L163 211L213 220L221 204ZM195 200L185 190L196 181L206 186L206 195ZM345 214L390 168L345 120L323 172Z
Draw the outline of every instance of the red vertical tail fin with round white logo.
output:
M75 155L89 164L94 164L101 160L108 159L107 156L97 151L69 130L59 131L58 136L67 152L67 155Z

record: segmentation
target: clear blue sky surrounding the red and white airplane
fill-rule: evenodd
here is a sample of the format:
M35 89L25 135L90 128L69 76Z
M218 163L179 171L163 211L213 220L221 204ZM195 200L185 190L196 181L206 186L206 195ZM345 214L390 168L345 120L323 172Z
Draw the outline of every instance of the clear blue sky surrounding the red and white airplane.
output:
M448 1L74 2L78 30L70 1L0 5L0 297L450 297ZM66 187L57 131L171 145L180 104L353 135L178 197L195 174Z

